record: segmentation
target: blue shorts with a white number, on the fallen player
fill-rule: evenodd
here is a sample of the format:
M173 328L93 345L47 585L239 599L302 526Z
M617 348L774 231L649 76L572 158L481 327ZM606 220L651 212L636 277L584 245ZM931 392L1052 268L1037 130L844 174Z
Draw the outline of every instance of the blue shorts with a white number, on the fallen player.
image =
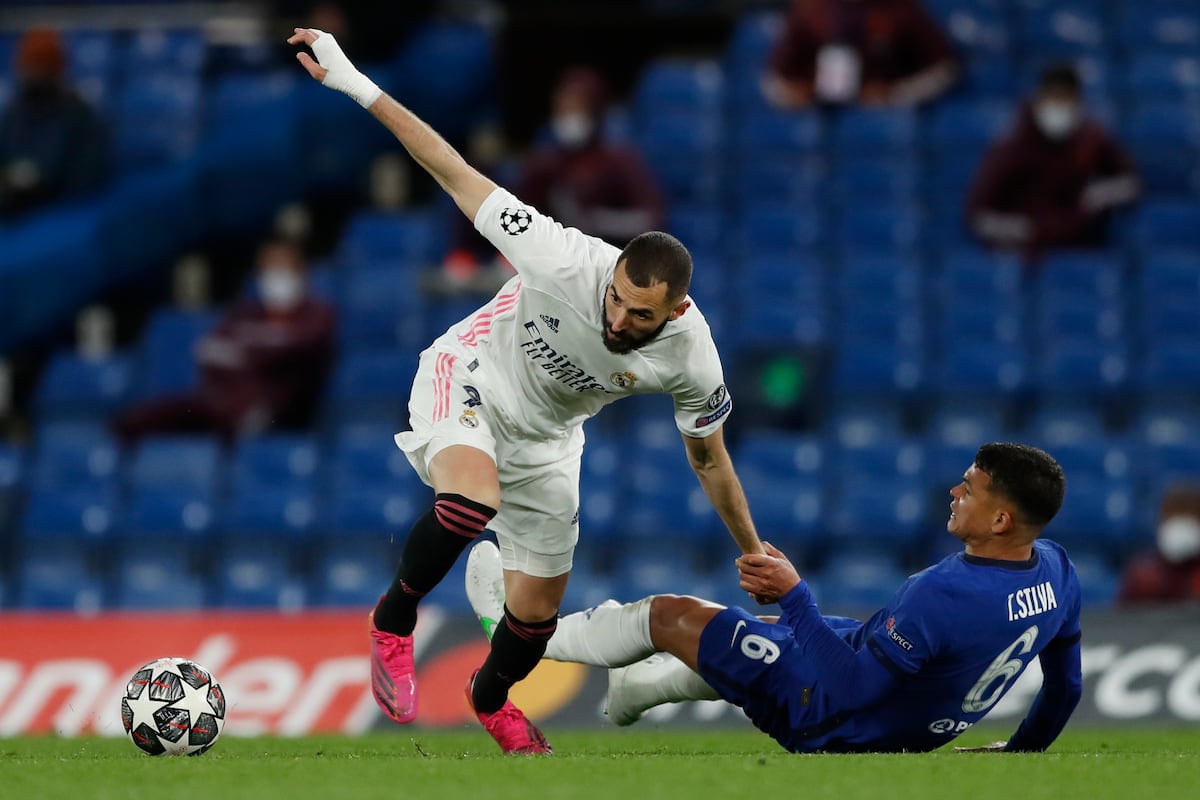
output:
M792 628L743 608L719 612L700 636L700 676L787 750L805 750L833 721Z

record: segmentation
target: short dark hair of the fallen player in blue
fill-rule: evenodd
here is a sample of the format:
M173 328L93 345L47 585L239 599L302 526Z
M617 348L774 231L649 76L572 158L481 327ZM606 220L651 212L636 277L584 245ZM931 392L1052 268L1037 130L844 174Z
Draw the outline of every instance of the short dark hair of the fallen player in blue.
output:
M1067 477L1050 453L1002 441L991 441L976 452L976 469L991 479L990 492L1013 501L1021 522L1045 528L1062 507Z

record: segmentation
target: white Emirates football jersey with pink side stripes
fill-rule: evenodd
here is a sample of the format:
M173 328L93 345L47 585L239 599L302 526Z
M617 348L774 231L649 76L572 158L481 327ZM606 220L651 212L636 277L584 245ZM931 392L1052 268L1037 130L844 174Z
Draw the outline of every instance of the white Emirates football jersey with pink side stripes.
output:
M616 399L666 393L689 437L725 422L733 404L695 302L649 344L611 353L604 299L617 247L564 228L503 188L480 206L475 228L517 275L432 347L463 359L493 411L528 435L557 439Z

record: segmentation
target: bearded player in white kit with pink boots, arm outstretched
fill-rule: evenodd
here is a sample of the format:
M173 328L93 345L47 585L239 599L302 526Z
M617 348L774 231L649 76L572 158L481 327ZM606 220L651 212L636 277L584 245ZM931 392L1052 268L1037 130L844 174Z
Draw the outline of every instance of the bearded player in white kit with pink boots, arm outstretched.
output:
M492 529L506 604L467 697L506 753L548 753L508 699L558 624L578 537L583 422L638 393L674 399L688 459L743 553L762 553L721 426L732 399L700 309L691 257L650 231L624 251L564 228L463 161L440 136L359 72L332 36L288 40L308 73L368 109L450 194L517 275L420 356L413 429L396 444L436 493L404 542L395 581L372 612L372 688L397 722L416 716L416 606L462 551ZM636 458L636 453L630 453Z

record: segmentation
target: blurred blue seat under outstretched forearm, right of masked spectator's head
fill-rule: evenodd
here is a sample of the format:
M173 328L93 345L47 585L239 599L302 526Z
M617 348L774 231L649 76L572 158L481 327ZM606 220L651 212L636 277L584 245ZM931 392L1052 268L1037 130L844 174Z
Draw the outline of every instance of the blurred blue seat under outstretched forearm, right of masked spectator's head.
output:
M433 210L362 211L342 234L338 257L350 265L373 265L412 272L442 257L445 231ZM403 283L402 275L395 275Z

